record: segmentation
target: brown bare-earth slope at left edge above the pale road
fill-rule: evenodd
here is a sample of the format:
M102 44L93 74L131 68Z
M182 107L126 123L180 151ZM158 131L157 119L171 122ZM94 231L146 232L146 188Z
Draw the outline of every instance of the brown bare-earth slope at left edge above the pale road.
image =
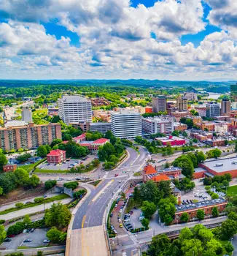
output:
M16 200L23 200L28 197L38 197L44 195L44 184L39 184L36 189L25 190L23 188L18 188L9 192L9 194L0 197L0 205L4 203L11 203Z

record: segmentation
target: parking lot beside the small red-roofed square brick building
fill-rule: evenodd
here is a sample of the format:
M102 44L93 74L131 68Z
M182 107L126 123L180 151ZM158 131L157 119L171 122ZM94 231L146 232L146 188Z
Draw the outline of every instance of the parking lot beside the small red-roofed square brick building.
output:
M82 159L66 159L66 161L61 164L49 164L47 162L39 165L39 169L44 170L69 170L71 167L76 167L77 165L88 165L93 159L95 159L96 155L89 155L88 157Z

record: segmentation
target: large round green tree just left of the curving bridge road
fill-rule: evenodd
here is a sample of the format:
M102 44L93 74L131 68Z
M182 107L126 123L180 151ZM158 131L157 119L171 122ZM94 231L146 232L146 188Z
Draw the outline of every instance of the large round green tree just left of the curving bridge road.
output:
M62 228L69 225L71 213L69 209L61 203L53 203L50 209L45 211L44 219L47 227Z

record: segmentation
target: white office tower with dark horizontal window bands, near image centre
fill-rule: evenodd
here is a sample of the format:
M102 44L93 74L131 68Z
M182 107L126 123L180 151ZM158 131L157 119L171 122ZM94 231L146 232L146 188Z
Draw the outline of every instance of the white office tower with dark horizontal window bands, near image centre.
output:
M113 112L111 115L112 133L117 138L141 136L141 114L129 110Z

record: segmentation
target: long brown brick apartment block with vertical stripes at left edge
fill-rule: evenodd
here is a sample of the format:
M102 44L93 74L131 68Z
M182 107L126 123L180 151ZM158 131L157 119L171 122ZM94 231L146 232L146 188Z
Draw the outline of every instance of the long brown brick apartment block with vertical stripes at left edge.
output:
M6 151L37 148L61 138L61 124L30 123L21 127L0 128L0 148Z

